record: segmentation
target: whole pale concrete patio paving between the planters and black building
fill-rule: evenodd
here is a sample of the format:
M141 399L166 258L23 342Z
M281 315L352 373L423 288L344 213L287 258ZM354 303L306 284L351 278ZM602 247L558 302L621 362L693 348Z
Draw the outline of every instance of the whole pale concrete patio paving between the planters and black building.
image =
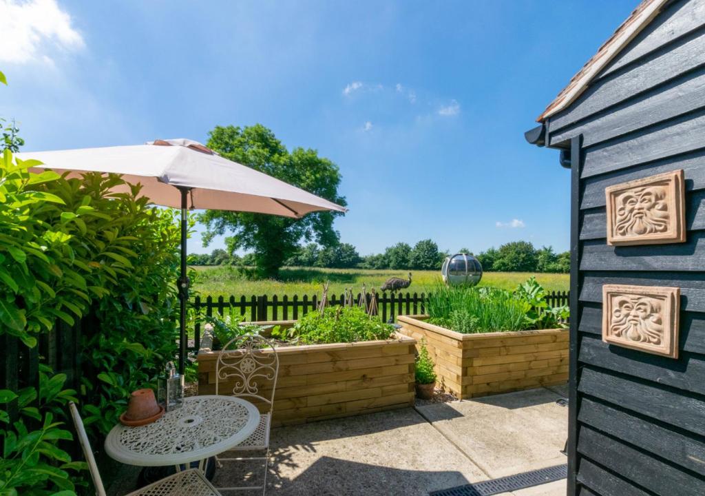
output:
M418 495L545 466L560 454L568 409L560 389L372 413L271 433L270 496ZM259 462L229 462L216 486L261 483ZM121 474L123 483L127 474ZM123 485L111 495L124 495ZM224 492L249 494L250 492ZM565 480L502 496L563 496Z

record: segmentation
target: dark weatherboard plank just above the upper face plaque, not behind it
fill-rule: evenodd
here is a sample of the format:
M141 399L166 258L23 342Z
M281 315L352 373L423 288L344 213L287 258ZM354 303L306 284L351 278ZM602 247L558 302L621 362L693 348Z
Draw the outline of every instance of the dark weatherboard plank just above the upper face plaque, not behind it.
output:
M597 176L651 160L692 152L702 147L703 131L705 110L701 109L588 148L585 150L582 177Z

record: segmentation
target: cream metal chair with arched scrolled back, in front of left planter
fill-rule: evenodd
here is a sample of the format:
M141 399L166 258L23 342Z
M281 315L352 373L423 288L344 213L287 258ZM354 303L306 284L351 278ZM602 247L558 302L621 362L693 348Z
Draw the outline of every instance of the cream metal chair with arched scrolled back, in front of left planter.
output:
M216 361L216 394L231 394L250 399L259 407L259 425L250 437L229 449L228 452L264 451L264 456L216 456L219 466L223 461L264 461L262 485L218 488L219 490L262 489L266 492L266 476L269 471L269 430L274 409L274 390L279 373L279 358L271 341L258 334L238 336L223 346ZM221 392L221 382L227 382L227 392Z

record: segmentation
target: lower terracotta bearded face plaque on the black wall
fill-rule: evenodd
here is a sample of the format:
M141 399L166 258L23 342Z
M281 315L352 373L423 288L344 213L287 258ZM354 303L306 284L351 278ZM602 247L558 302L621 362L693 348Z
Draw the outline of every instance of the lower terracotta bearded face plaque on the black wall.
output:
M602 286L602 340L678 358L680 288Z

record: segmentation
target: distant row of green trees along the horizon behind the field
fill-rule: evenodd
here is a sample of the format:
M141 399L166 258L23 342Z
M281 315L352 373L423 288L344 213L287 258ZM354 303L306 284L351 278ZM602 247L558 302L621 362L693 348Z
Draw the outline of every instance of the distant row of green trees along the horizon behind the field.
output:
M461 248L457 253L471 253ZM440 270L443 260L450 255L430 239L423 239L414 246L396 243L376 253L360 256L350 243L321 247L316 243L300 246L284 265L288 267L326 267L335 269L391 269L391 270ZM556 253L551 246L534 248L528 241L513 241L499 248L489 248L475 255L487 272L569 272L570 252ZM192 265L237 265L253 267L257 259L252 253L242 257L230 255L218 248L212 253L192 254Z

